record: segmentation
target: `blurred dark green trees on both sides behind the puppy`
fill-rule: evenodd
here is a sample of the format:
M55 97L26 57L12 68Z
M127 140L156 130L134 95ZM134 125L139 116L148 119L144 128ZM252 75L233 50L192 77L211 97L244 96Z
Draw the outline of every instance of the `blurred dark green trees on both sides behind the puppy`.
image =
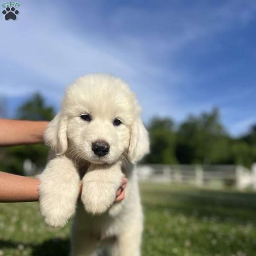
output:
M54 108L37 93L20 105L15 118L40 121L54 116ZM232 137L221 124L218 108L190 115L179 125L172 118L155 116L146 126L151 151L142 163L241 164L250 168L256 162L256 125L247 134ZM47 154L44 145L0 148L0 171L22 175L25 159L43 169Z

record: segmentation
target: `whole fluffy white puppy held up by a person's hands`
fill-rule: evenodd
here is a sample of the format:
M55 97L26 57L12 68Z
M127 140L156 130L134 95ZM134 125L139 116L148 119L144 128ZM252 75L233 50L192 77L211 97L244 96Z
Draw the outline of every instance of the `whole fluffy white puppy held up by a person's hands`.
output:
M76 212L71 254L139 256L143 213L134 163L149 151L134 93L109 75L82 76L67 88L45 141L55 156L39 176L40 210L62 227ZM126 196L114 203L122 177ZM79 182L82 179L81 200Z

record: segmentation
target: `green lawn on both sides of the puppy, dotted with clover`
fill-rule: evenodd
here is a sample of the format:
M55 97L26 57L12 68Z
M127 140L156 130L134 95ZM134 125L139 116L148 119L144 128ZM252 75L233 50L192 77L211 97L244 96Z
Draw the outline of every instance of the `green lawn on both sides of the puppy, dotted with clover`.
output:
M256 194L141 184L143 256L256 255ZM70 224L47 227L38 203L0 204L0 256L68 255Z

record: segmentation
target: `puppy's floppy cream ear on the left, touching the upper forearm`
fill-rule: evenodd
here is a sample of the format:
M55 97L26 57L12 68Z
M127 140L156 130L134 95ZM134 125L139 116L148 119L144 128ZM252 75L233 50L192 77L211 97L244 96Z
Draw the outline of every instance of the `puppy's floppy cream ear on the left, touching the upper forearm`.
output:
M67 118L62 116L61 112L47 126L44 141L58 155L67 151Z

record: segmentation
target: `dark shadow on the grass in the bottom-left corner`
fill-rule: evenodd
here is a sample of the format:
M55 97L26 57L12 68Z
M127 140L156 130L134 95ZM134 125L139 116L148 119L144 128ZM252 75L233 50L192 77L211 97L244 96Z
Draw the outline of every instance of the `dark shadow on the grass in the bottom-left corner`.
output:
M0 249L17 249L20 243L0 240ZM69 239L49 239L42 244L23 244L24 249L31 248L32 256L68 256Z

